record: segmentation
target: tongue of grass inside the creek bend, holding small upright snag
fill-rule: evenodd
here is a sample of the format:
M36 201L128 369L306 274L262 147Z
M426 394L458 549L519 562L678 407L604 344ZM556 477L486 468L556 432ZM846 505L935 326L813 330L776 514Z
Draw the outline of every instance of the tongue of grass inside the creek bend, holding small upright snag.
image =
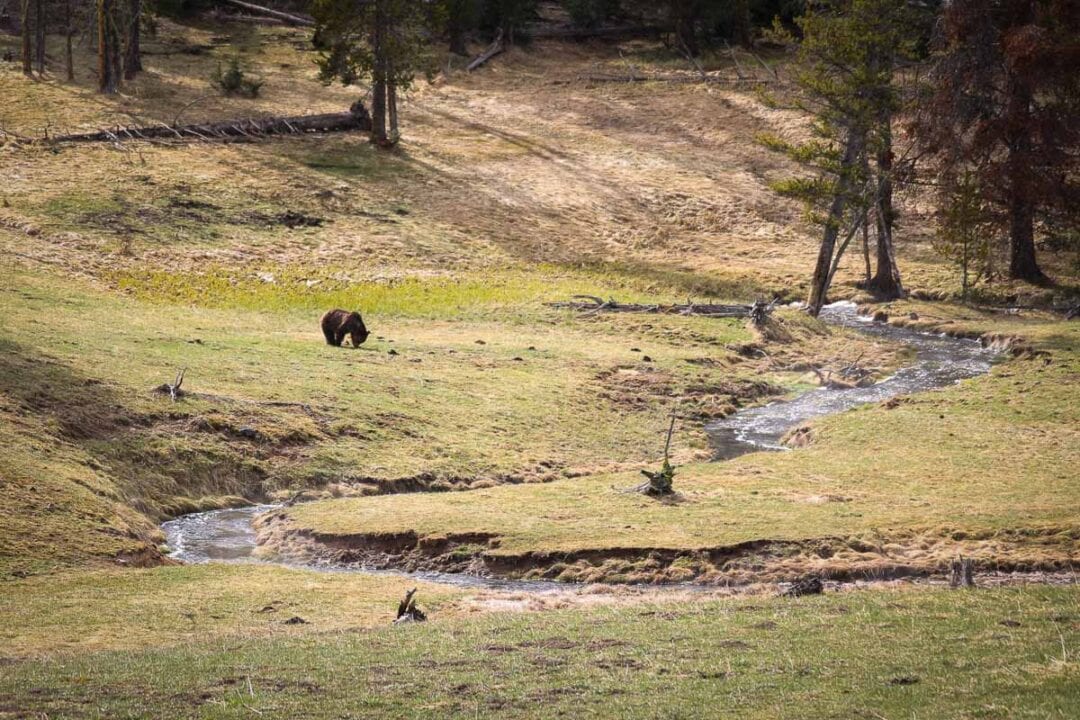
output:
M353 536L357 546L365 536L409 530L489 533L498 540L483 554L503 563L548 553L550 565L579 551L639 548L645 556L650 548L795 541L798 553L778 558L766 547L755 560L752 549L713 571L747 580L777 569L933 570L958 551L991 567L1063 567L1080 539L1080 409L1069 392L1080 378L1078 335L1064 323L1027 329L1043 354L895 406L815 421L809 448L680 467L681 498L673 503L621 491L639 477L616 474L446 498L332 500L287 513L295 527ZM526 561L521 570L529 568ZM564 576L582 579L579 570ZM612 572L625 568L612 566L607 576Z

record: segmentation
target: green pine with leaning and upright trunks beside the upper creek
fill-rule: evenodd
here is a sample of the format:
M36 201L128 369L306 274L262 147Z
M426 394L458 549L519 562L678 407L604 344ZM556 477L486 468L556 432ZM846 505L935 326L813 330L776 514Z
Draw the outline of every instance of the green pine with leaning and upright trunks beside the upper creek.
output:
M896 66L914 53L916 35L906 4L892 0L820 2L798 25L796 105L812 117L814 139L761 139L813 173L774 189L805 201L823 227L807 301L816 315L845 250L868 217L875 218L878 237L870 284L887 297L903 293L892 236L897 172L892 126L901 107ZM775 35L784 32L777 28Z

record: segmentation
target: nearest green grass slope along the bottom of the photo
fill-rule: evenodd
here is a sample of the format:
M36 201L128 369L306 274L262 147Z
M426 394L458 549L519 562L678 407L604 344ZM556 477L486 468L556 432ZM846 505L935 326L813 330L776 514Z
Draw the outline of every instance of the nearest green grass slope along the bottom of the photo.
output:
M1067 718L1080 596L1030 586L745 598L9 664L50 717Z

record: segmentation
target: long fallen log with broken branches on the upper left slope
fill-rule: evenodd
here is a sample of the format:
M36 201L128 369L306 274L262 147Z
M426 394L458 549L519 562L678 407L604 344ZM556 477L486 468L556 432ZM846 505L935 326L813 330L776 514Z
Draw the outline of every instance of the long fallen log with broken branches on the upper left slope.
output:
M57 135L35 139L36 142L119 142L122 140L215 140L254 139L267 135L299 135L302 133L347 133L372 130L372 119L359 103L349 112L329 112L292 118L244 118L190 125L148 125L116 127L95 133Z

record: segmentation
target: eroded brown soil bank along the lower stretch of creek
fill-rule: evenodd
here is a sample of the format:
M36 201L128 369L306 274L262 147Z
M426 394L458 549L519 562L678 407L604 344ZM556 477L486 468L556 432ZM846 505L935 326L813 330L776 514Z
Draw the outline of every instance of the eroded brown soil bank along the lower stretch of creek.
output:
M597 547L514 554L500 549L501 539L492 533L328 534L297 528L280 511L260 516L255 527L258 554L286 562L571 583L745 585L793 582L807 574L838 582L943 578L957 553L974 558L983 572L1062 572L1077 565L1069 542L1051 542L1075 534L1068 528L1000 531L981 538L912 531L882 538L877 545L862 538L816 538L698 549ZM1038 553L1030 552L1035 544Z

